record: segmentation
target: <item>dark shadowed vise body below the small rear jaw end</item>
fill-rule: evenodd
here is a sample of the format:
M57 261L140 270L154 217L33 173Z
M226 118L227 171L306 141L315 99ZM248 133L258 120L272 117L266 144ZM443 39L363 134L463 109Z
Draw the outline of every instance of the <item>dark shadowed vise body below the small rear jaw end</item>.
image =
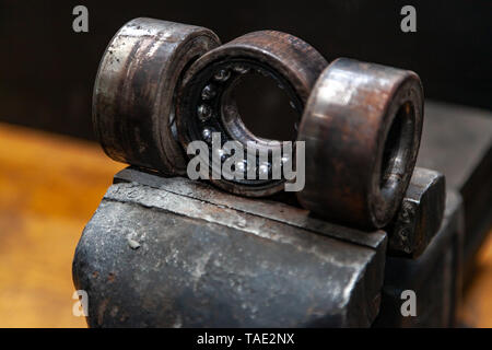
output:
M425 252L417 259L387 257L380 312L374 326L455 326L462 280L462 236L461 197L448 190L442 228ZM414 316L401 313L409 300L402 298L403 291L414 292Z

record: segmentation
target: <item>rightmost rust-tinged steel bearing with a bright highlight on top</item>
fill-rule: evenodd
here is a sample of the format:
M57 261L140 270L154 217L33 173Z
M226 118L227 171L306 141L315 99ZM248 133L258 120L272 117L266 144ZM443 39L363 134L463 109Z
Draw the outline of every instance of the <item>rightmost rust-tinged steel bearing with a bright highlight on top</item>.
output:
M419 77L340 58L321 73L306 104L301 203L326 219L382 228L410 182L420 145L423 90Z

